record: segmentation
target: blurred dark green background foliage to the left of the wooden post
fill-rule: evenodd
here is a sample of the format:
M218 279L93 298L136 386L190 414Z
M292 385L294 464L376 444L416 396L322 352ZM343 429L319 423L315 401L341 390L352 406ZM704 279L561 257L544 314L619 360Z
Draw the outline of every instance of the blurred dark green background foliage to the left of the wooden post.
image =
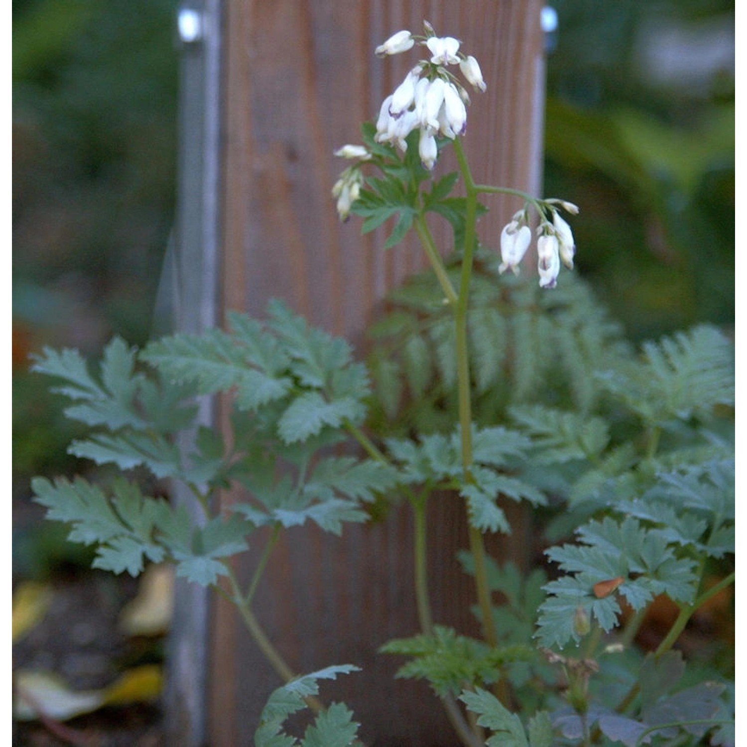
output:
M13 0L14 492L71 470L42 344L149 336L173 223L176 0Z

